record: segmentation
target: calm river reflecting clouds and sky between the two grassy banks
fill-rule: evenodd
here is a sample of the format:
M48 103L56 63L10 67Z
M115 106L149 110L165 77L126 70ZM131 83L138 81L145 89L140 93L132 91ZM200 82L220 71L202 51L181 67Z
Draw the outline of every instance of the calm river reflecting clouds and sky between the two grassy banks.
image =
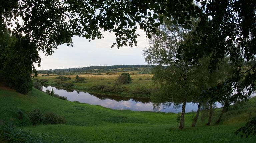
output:
M74 90L64 90L51 86L44 86L43 91L46 91L47 89L51 90L51 88L53 88L55 94L65 96L69 101L79 101L80 103L100 105L103 107L120 110L130 109L134 111L155 111L153 108L153 103L150 99L89 94ZM161 104L158 107L158 111L175 113L181 112L181 107L174 107L174 104L170 104L169 107ZM192 110L196 111L197 107L197 104L187 103L185 112L191 112ZM217 107L221 107L221 104L217 104Z

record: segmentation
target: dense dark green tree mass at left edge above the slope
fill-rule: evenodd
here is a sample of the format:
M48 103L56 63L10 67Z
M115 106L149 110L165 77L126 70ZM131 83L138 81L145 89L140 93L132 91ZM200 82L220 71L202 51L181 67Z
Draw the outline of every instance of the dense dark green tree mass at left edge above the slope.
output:
M23 39L0 33L0 79L22 94L27 94L33 86L30 52L28 43Z

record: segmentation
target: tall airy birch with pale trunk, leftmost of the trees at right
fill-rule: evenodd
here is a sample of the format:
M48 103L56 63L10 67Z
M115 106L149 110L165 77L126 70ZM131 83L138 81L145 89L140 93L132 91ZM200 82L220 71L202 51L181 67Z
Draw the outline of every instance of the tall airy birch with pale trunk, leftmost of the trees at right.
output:
M160 83L162 94L153 94L153 96L161 96L161 100L155 102L181 104L179 128L184 128L186 102L192 101L196 91L192 79L195 69L191 62L179 59L177 51L179 45L191 36L197 20L194 19L191 24L192 30L173 24L173 20L164 19L163 24L157 29L159 36L152 34L152 46L143 50L143 55L149 64L157 64L152 69L154 74L152 80ZM153 97L153 99L159 99L159 97Z

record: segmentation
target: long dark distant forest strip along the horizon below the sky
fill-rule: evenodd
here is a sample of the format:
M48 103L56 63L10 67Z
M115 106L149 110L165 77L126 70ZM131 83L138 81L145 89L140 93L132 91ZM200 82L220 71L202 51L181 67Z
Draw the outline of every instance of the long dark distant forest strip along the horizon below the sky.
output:
M118 71L137 71L151 70L152 65L113 65L113 66L89 66L82 68L68 68L68 69L49 69L38 70L41 74L61 74L61 73L97 73L97 72L118 72ZM122 69L120 69L122 68Z

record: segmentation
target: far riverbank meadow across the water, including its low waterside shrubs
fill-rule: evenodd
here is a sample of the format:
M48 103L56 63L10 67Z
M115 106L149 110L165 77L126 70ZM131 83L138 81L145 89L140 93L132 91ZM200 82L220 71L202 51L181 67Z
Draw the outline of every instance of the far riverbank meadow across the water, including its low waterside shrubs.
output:
M157 87L153 85L151 78L152 74L136 74L137 72L129 72L131 74L131 84L121 84L117 81L118 76L123 72L116 73L101 73L101 75L81 74L79 77L85 78L82 83L74 83L76 75L66 75L71 80L61 81L56 79L59 75L50 74L48 76L42 76L39 74L37 80L48 80L46 85L52 85L56 87L67 88L73 90L82 90L90 93L124 96L124 97L140 97L150 98L150 92L154 91ZM63 86L64 85L64 86ZM99 87L100 86L100 87ZM111 90L103 90L102 87L111 88Z

